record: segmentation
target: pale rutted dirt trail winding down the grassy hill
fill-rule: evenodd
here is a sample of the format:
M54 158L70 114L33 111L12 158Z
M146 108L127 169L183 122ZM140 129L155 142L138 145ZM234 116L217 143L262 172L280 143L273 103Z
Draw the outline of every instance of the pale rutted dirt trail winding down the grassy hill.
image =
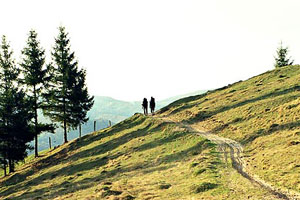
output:
M232 160L232 166L242 176L249 179L251 182L258 184L260 187L266 189L273 195L277 196L279 199L300 200L299 193L296 193L294 191L276 188L273 185L271 185L271 184L265 182L264 180L262 180L261 178L259 178L257 175L252 174L249 171L249 169L247 169L247 164L246 164L245 160L243 159L243 147L240 143L238 143L234 140L228 139L228 138L220 137L220 136L212 134L210 132L205 132L203 130L200 130L197 126L194 126L194 125L189 125L189 124L181 123L181 122L175 122L169 118L159 118L159 119L166 121L166 122L176 123L179 126L188 129L191 133L195 133L197 135L205 137L208 140L212 141L213 143L217 144L219 146L220 151L224 153L224 158L225 158L226 162L228 159L227 149L229 148L230 158Z

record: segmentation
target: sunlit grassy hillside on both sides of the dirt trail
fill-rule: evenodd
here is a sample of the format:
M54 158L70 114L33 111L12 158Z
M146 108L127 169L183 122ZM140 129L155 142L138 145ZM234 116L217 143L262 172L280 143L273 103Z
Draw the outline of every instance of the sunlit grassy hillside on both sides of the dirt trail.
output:
M300 66L284 67L136 114L20 165L0 199L278 198L179 123L240 142L252 173L300 192L299 80Z

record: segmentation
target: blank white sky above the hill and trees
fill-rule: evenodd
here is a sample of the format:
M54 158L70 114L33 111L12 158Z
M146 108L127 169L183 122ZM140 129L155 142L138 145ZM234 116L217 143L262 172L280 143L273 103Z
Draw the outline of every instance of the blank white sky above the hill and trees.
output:
M30 29L49 52L66 26L89 91L164 99L274 68L280 41L300 62L298 0L0 0L17 61ZM50 60L50 57L47 58Z

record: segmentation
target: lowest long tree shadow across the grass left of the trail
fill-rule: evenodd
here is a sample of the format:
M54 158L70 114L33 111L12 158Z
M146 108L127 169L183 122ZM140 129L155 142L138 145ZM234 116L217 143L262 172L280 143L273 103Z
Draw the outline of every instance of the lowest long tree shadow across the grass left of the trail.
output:
M148 161L145 163L137 163L133 166L114 168L112 170L105 171L105 173L103 173L103 171L102 171L102 173L99 172L99 175L94 176L92 178L85 178L83 180L80 180L80 182L64 181L63 183L52 185L50 187L39 188L34 191L27 191L27 192L23 193L22 195L14 196L13 199L14 200L37 199L37 198L52 199L52 198L55 198L58 196L72 194L79 190L84 190L84 189L87 189L87 188L90 188L93 186L97 186L98 184L100 184L101 182L103 182L107 179L119 177L120 174L125 174L125 173L128 174L128 173L134 172L134 171L139 171L140 173L148 174L148 173L152 173L155 171L168 170L168 169L176 166L175 163L174 164L170 164L170 163L184 160L186 158L186 155L188 155L188 154L194 155L195 152L201 153L204 149L208 148L209 146L210 146L210 144L206 140L203 140L203 141L197 143L196 145L194 145L193 147L190 147L183 151L174 153L173 155L165 156L164 158L162 158L161 162L155 163L155 162ZM169 163L169 165L159 166L162 162ZM87 163L82 163L80 165L86 165L86 164ZM80 166L75 165L74 169L76 169L76 168L78 169L78 168L80 168ZM57 174L63 173L63 171L68 171L68 169L61 169L61 172L57 172ZM130 176L135 176L135 174L136 173L131 174ZM31 186L31 185L28 185L28 186ZM99 185L99 188L96 188L96 189L101 190L101 187L102 186ZM23 188L23 189L25 189L25 188ZM95 193L96 193L96 191L95 191ZM5 194L5 193L2 193L2 194ZM5 195L7 195L7 194L5 194Z

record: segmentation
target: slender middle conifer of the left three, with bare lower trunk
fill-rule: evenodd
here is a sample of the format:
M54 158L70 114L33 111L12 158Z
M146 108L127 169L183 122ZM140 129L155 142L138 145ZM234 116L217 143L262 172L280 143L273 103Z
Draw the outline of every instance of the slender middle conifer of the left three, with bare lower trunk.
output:
M43 103L46 103L42 97L44 84L47 81L47 68L45 67L45 51L40 47L37 39L37 33L31 30L28 35L26 47L22 51L23 60L21 63L24 76L23 84L26 86L27 95L32 101L34 112L34 132L35 145L34 155L38 157L38 135L42 131L54 131L50 124L38 122L38 110L42 109Z

